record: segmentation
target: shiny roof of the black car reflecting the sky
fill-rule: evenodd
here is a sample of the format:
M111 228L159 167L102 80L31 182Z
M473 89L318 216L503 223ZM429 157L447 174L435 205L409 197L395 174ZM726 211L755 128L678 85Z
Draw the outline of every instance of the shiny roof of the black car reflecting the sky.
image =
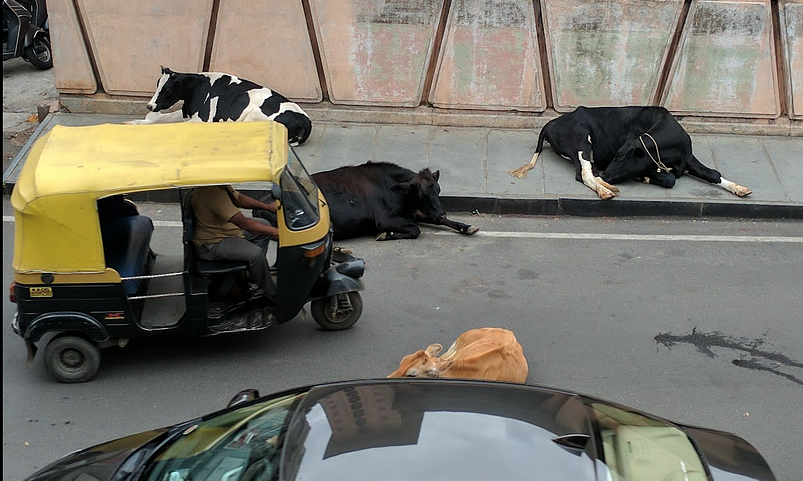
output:
M592 435L573 393L476 381L372 380L313 387L288 426L286 479L594 480ZM592 436L593 438L593 436ZM294 445L295 443L295 445ZM411 460L415 460L412 462Z

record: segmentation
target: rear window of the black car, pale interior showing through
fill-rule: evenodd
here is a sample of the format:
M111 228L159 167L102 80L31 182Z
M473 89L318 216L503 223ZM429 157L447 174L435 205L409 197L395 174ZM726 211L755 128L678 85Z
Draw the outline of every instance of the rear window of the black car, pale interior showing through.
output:
M706 481L697 450L681 429L609 404L591 403L611 481Z

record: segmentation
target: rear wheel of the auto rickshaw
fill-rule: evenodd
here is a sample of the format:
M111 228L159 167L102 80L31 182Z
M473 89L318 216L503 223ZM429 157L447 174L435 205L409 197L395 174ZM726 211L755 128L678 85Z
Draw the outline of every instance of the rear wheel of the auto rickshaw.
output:
M59 382L85 382L100 368L100 349L83 337L62 335L45 347L45 367Z

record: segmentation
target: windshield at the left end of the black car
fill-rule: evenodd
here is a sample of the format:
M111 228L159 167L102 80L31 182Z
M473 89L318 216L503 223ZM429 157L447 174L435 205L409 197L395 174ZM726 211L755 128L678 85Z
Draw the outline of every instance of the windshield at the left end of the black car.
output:
M206 419L159 453L140 478L148 481L243 481L274 479L292 394Z

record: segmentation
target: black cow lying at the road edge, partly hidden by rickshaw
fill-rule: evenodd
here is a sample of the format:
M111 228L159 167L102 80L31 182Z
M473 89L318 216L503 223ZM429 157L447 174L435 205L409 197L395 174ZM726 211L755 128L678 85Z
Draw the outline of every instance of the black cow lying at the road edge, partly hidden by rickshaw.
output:
M334 238L376 235L376 240L415 239L416 222L444 225L462 234L479 228L449 220L438 195L440 171L416 173L387 162L368 162L312 174L327 203ZM269 212L253 214L272 220Z

